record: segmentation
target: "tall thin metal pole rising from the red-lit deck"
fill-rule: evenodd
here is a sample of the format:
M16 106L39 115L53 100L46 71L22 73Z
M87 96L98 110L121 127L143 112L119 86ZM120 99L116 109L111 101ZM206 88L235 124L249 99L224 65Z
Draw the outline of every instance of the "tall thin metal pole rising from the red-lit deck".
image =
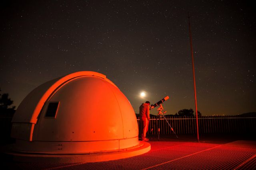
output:
M198 113L197 113L197 100L196 100L196 78L195 78L195 67L194 67L194 56L193 56L193 48L192 48L192 35L191 35L191 28L190 28L190 16L189 16L189 12L188 12L188 27L189 27L190 49L191 49L191 57L192 57L193 79L194 79L194 92L195 92L195 105L196 105L196 133L197 133L197 141L199 142L199 133L198 133Z

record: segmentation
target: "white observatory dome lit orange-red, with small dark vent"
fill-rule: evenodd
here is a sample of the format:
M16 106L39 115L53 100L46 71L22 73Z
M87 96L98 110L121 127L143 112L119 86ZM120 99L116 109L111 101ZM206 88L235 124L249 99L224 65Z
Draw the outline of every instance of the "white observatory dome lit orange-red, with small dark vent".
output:
M92 154L144 145L126 96L106 76L91 71L56 78L30 92L14 114L11 136L16 151L40 154Z

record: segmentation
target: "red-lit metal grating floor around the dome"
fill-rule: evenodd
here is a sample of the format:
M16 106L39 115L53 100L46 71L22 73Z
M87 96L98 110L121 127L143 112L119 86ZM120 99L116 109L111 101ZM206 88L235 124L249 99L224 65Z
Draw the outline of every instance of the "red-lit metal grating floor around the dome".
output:
M19 169L256 169L256 141L224 145L193 142L150 142L151 150L131 158L79 164L12 163Z

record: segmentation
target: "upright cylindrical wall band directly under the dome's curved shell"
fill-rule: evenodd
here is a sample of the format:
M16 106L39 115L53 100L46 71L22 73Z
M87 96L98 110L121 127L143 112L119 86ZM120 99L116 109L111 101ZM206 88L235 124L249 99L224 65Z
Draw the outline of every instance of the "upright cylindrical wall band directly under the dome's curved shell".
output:
M116 152L139 146L138 136L106 141L24 141L16 139L13 150L33 154L92 154Z

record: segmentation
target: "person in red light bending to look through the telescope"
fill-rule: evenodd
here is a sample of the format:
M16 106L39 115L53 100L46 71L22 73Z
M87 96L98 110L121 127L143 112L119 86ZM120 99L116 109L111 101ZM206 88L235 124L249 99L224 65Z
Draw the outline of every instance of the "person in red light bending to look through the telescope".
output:
M146 138L146 133L148 132L148 123L149 123L149 107L150 102L146 101L140 106L140 137L142 141L149 141Z

